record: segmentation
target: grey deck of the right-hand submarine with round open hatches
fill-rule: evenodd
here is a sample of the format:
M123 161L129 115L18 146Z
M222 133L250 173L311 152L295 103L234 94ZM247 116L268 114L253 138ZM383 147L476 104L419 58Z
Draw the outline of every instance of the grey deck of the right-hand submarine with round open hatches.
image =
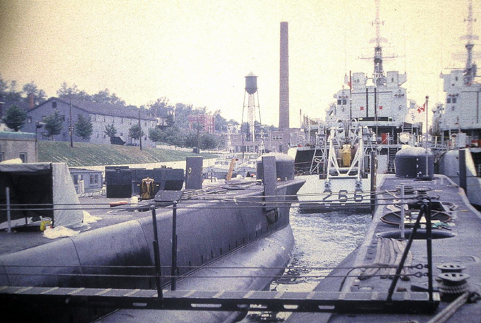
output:
M436 282L436 277L441 273L437 268L440 264L454 264L465 266L463 274L468 274L467 278L468 291L481 291L481 214L476 211L468 202L464 192L448 177L444 175L435 175L434 180L422 181L411 178L395 177L393 174L383 175L382 183L378 191L383 192L379 195L377 207L373 215L373 221L366 234L364 242L354 250L341 264L340 268L334 269L330 275L331 279L327 278L321 281L314 289L316 292L320 291L340 291L342 294L352 294L358 292L369 293L370 295L384 294L389 290L392 283L392 274L395 269L382 268L379 271L373 269L354 269L349 271L341 267L356 267L366 265L376 265L379 263L398 263L400 254L404 248L401 246L399 239L396 239L398 232L398 225L385 223L381 217L393 211L392 203L395 200L390 200L393 197L393 192L400 184L404 183L407 187L413 187L415 191L419 189L428 189L428 196L433 202L442 202L447 206L447 212L452 221L449 226L440 226L440 229L433 229L432 240L432 270L433 270L433 287L434 291L438 291L439 285ZM390 193L389 193L389 192ZM409 197L409 195L406 195ZM385 200L386 199L386 200ZM411 200L414 202L414 200ZM411 202L409 202L411 203ZM406 227L406 230L409 228ZM391 232L391 234L386 234ZM381 238L389 237L389 238ZM384 247L382 247L384 246ZM396 253L396 248L398 253ZM408 272L409 280L399 279L396 285L395 292L406 291L406 305L409 306L409 295L412 291L426 291L428 288L428 280L425 276L427 269L424 265L427 264L426 240L415 239L410 248L411 254L408 255L408 261L412 265L422 264L423 268L410 268ZM389 255L391 257L389 261ZM410 256L410 257L409 257ZM396 261L393 261L393 258ZM409 263L407 263L409 264ZM365 272L363 272L365 271ZM404 273L404 272L402 272ZM422 273L422 276L420 275ZM336 276L348 275L347 279L343 280ZM369 276L370 275L370 276ZM368 277L369 276L369 277ZM391 277L390 277L391 276ZM360 278L360 279L359 279ZM437 293L434 294L436 298ZM341 296L342 297L342 296ZM442 299L443 300L443 299ZM431 319L436 313L445 309L450 303L441 301L437 310L432 314L410 313L410 314L395 314L395 313L369 313L369 309L362 313L294 313L287 320L286 323L292 322L396 322L396 321L419 321L426 322ZM477 303L466 303L457 309L448 322L472 321L473 318L479 319L481 312L481 301Z

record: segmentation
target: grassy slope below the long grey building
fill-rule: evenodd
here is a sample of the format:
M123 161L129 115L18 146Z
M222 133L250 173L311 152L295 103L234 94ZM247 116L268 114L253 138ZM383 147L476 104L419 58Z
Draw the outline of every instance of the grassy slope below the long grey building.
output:
M187 156L215 158L215 154L134 146L96 145L69 142L38 142L39 162L66 162L68 166L141 164L185 160Z

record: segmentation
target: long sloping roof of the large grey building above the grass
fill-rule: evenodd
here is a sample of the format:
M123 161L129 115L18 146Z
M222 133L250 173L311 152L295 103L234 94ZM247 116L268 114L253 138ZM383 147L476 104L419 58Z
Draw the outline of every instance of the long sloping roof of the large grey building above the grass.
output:
M45 103L51 100L60 101L65 104L70 104L70 101L67 99L50 98L46 102L38 105L38 107L44 105ZM132 108L132 107L125 107L121 105L113 105L113 104L98 103L98 102L83 101L83 100L72 100L72 106L89 113L106 114L111 116L127 117L127 118L139 117L139 109ZM147 119L147 120L156 120L154 117L151 116L150 111L146 109L140 109L140 118Z

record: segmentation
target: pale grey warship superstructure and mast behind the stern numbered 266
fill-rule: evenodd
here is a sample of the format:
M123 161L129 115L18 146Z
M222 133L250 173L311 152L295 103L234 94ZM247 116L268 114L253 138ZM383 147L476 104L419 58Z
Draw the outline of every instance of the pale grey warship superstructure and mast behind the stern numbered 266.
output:
M407 91L402 85L407 74L399 71L384 71L382 42L380 36L379 4L376 3L376 16L373 25L376 36L371 39L374 47L374 72L372 76L364 72L349 73L345 84L335 95L336 100L326 111L326 124L305 125L307 143L296 148L296 170L299 173L318 173L315 159L326 155L324 144L329 136L329 128L339 122L352 122L371 129L370 144L378 148L380 155L387 156L385 168L393 170L394 155L400 148L399 135L418 135L421 124L406 122L408 110ZM345 86L345 85L348 86ZM293 154L293 153L292 153ZM326 155L327 156L327 155Z

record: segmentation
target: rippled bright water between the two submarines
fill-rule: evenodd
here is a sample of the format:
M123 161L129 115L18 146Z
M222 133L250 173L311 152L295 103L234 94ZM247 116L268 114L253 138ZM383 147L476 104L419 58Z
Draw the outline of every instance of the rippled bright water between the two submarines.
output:
M362 241L371 222L370 213L339 211L303 213L291 208L291 227L296 240L293 258L285 275L271 284L271 290L288 292L312 291L331 269L306 267L334 267ZM282 322L289 313L249 312L247 322Z

